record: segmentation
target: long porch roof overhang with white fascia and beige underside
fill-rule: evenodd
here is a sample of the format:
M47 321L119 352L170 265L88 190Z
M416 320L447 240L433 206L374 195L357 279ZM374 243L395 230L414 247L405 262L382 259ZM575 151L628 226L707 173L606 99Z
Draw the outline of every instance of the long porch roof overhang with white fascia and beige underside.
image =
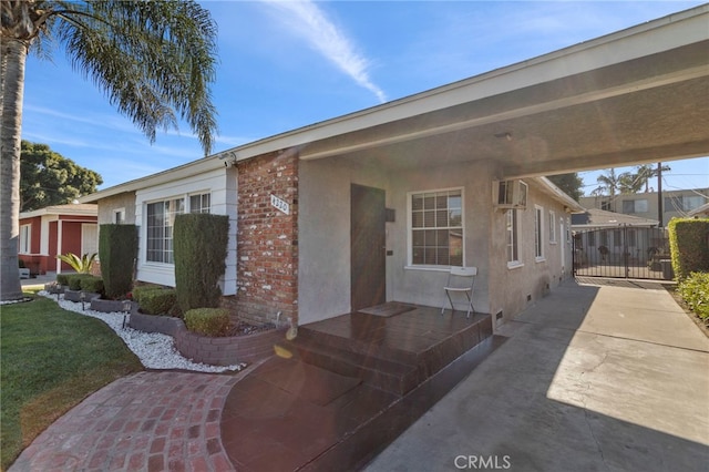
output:
M709 154L709 4L218 154L297 150L501 178Z

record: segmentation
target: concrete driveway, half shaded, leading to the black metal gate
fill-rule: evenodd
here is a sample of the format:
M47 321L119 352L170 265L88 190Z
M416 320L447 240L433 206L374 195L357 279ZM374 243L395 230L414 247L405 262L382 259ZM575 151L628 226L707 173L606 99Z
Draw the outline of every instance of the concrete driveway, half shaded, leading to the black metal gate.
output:
M709 338L654 283L566 283L366 469L707 471Z

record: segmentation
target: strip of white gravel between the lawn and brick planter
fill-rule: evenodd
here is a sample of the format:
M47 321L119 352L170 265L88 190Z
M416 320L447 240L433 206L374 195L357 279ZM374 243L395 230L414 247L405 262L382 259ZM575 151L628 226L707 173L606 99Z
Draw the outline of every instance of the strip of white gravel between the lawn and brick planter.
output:
M56 300L56 295L41 290L38 293L43 297ZM147 369L183 369L194 370L198 372L225 372L238 371L246 367L245 363L233 366L208 366L206 363L193 362L186 359L175 349L172 336L158 332L143 332L129 328L123 328L123 312L102 312L91 309L82 310L81 302L64 300L64 296L60 295L56 301L60 307L65 310L78 312L93 318L99 318L113 329L116 335L123 339L123 342L141 359L143 366ZM89 304L86 304L89 305Z

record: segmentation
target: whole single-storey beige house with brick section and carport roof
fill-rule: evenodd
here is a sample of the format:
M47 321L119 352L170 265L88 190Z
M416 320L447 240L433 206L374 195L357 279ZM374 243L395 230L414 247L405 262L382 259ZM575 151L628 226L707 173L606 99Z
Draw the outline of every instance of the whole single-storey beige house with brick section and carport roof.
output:
M510 319L572 276L583 208L540 175L709 153L708 20L698 7L82 201L140 227L137 278L165 285L175 215L228 215L222 284L239 316L440 307L464 265L475 308ZM607 134L619 114L623 140Z

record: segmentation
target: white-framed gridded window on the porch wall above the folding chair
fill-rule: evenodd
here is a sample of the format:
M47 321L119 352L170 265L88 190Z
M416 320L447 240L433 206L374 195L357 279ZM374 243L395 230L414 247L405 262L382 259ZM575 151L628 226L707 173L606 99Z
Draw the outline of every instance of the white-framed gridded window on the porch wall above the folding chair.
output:
M463 189L410 194L410 261L414 266L462 266Z

